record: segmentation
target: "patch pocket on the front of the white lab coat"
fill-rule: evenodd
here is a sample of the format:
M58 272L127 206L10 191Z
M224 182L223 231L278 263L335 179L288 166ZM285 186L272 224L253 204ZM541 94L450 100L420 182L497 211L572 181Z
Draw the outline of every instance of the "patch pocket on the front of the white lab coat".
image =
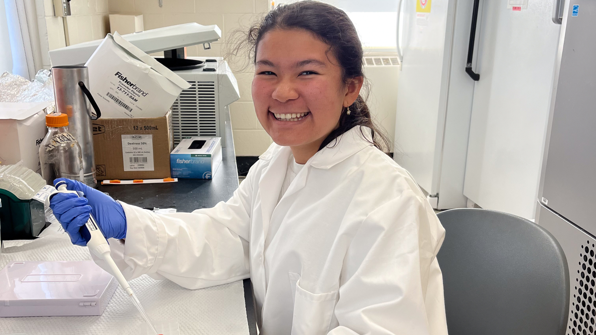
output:
M292 335L325 335L329 332L331 318L339 291L314 294L296 283Z

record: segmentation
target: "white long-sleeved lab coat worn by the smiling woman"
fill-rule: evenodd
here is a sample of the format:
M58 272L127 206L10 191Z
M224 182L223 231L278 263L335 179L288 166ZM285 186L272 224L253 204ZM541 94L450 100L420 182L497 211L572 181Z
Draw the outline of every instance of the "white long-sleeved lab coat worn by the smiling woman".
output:
M156 215L122 203L126 243L111 244L125 277L188 289L250 277L264 335L446 335L445 230L409 173L355 127L278 203L290 153L272 144L213 208Z

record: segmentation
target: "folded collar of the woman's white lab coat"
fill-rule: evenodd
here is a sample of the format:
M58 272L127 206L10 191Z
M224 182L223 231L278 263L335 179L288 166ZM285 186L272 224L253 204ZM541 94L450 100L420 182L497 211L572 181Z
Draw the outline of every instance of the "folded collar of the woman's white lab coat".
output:
M358 151L373 145L371 129L365 126L355 126L347 132L331 141L330 144L319 150L306 165L317 169L330 169L337 163L352 156ZM369 141L370 140L370 141ZM282 147L278 144L271 144L267 151L259 156L260 160L271 160L276 154L283 153L287 161L289 147Z

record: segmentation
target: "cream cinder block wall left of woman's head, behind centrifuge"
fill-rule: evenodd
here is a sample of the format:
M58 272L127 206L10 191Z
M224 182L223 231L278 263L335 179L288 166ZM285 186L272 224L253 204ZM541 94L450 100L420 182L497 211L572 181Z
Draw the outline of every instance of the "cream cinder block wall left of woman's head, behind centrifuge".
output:
M76 1L82 0L72 0L71 4ZM204 50L201 45L187 48L189 56L225 57L230 33L249 26L269 8L268 0L163 0L163 7L158 3L158 0L108 0L108 10L110 14L143 14L145 30L189 22L217 24L222 39L213 43L210 50ZM250 94L253 69L250 66L241 69L237 61L230 61L241 95L230 106L236 156L259 156L272 140L254 114Z

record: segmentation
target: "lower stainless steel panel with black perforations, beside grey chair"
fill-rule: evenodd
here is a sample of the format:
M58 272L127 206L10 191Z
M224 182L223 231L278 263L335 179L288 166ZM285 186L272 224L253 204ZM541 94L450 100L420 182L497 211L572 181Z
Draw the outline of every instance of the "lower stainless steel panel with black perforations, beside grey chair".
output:
M542 204L538 204L538 224L547 229L563 248L569 266L569 320L567 334L594 334L596 312L596 239L566 221ZM586 252L587 248L587 252ZM588 270L589 269L589 270ZM582 277L583 275L583 277ZM589 278L586 281L586 278ZM586 289L587 286L587 289ZM581 291L580 291L581 290ZM575 323L574 323L575 322ZM572 331L574 330L575 331Z

